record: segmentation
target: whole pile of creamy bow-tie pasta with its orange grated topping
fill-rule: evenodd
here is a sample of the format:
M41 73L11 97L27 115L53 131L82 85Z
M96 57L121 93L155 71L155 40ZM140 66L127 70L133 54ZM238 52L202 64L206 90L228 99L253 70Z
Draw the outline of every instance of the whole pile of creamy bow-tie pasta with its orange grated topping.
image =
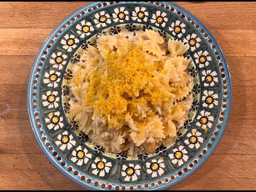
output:
M173 140L191 105L188 46L154 30L100 35L73 69L70 115L107 151L153 153Z

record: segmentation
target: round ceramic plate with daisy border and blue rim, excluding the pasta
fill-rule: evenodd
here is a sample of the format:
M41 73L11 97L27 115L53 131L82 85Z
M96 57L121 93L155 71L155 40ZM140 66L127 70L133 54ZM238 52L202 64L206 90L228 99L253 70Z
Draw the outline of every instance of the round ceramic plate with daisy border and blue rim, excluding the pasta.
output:
M193 104L189 119L169 146L153 154L107 153L69 117L67 82L72 66L95 37L154 29L190 48ZM227 61L210 31L194 15L166 2L96 2L75 11L46 39L28 83L28 113L44 154L69 179L87 189L165 189L193 174L213 153L225 132L231 106Z

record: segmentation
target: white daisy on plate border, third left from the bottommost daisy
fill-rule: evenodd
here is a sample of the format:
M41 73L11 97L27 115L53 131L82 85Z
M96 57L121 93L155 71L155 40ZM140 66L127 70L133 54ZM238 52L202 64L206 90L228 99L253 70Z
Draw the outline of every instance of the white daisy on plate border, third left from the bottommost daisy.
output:
M57 138L58 141L55 141L55 144L59 146L61 150L65 150L66 148L69 150L76 145L76 141L72 140L73 135L68 135L67 131L59 134Z

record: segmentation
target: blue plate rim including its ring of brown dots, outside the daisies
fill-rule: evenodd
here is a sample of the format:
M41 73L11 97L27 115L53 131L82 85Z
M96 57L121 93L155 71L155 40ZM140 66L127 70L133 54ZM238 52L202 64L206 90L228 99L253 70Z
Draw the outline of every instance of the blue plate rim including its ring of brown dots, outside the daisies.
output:
M77 14L79 14L81 18L83 18L84 15L86 15L88 13L87 10L91 9L91 12L94 12L95 10L93 9L94 6L98 6L98 4L101 4L102 7L98 7L97 9L100 10L102 8L111 6L111 4L108 2L106 6L103 6L104 2L93 2L93 3L89 3L83 7L81 7L81 9L78 9L77 11L75 11L74 13L71 13L66 19L64 19L53 31L52 33L49 35L49 37L47 37L47 39L45 40L44 44L42 45L41 49L38 51L38 54L36 56L36 59L33 63L33 68L31 69L30 72L30 77L29 77L29 82L28 82L28 90L27 90L27 105L28 105L28 114L29 114L29 119L30 119L30 124L31 127L33 129L33 132L35 134L36 140L39 144L39 146L41 147L43 153L46 155L46 157L50 160L50 162L64 175L66 175L69 179L73 180L74 182L78 183L79 185L86 187L87 189L103 189L101 184L105 185L104 189L109 189L111 186L111 190L127 190L127 189L141 189L141 190L159 190L159 189L166 189L169 187L172 187L174 185L176 185L177 183L185 180L186 178L188 178L191 174L193 174L196 170L199 169L199 167L201 167L206 160L211 156L211 154L213 153L213 151L215 150L215 148L218 146L218 143L220 142L222 135L224 134L226 127L227 127L227 123L228 123L228 119L229 119L229 115L230 115L230 110L231 110L231 102L232 102L232 87L231 87L231 79L230 79L230 74L229 74L229 69L228 69L228 65L227 65L227 61L225 58L225 55L223 54L217 40L214 38L214 36L211 34L211 32L203 25L203 23L201 21L199 21L193 14L189 13L188 11L186 11L185 9L183 9L182 7L175 5L173 3L169 3L169 2L154 2L153 4L151 4L150 2L118 2L118 4L150 4L150 5L154 5L154 6L159 6L159 7L163 7L163 9L165 9L166 6L169 6L170 9L166 11L171 11L171 9L173 10L173 13L176 13L177 17L179 17L179 19L183 20L183 19L187 19L190 18L190 23L191 22L195 22L193 26L193 28L195 30L198 31L198 33L201 33L202 35L207 34L207 37L205 37L205 41L208 41L208 39L211 39L211 43L207 43L210 47L211 47L211 51L213 53L218 52L217 55L215 55L215 59L217 61L217 63L222 63L222 65L218 65L218 70L221 76L221 99L225 98L226 102L223 102L223 100L221 100L221 106L225 105L225 108L222 108L221 111L225 113L225 115L221 115L218 114L218 119L219 118L223 118L222 121L218 120L217 124L220 127L217 127L217 125L215 127L212 127L212 129L214 130L212 132L212 135L210 135L209 137L209 141L206 142L205 146L202 147L201 150L199 150L198 156L193 157L192 159L190 159L190 161L186 164L186 166L183 166L182 168L178 169L174 174L169 175L170 177L166 178L166 177L162 177L160 179L156 179L154 182L143 182L143 183L139 183L139 184L122 184L122 183L111 183L111 182L105 182L105 181L101 181L95 178L92 178L90 175L86 175L80 171L78 171L77 169L75 169L75 167L73 167L73 165L69 164L69 162L67 162L65 160L65 158L58 153L57 155L53 155L53 151L54 151L54 145L53 143L50 141L49 138L47 138L47 135L44 135L45 132L45 127L43 126L42 123L42 117L41 114L38 113L37 115L35 115L35 111L37 111L36 109L39 108L39 98L38 98L38 92L39 92L39 82L41 82L41 75L42 75L42 70L43 66L45 64L45 53L44 51L46 50L47 53L50 53L54 44L56 43L56 41L54 41L53 43L51 43L52 40L58 39L58 37L55 37L55 35L59 35L59 30L62 31L62 33L65 33L65 31L67 31L69 29L70 26L72 26L72 23L76 22L72 21L71 18L76 18ZM112 2L111 2L112 3ZM117 4L116 2L113 2L113 5ZM163 6L161 6L163 5ZM81 12L84 11L85 14L82 15ZM67 22L70 22L69 25L67 25ZM66 25L66 28L63 29L62 26ZM202 32L204 31L204 32ZM51 45L51 47L47 47L47 45ZM215 45L215 48L212 48L212 45ZM46 54L47 54L46 53ZM220 58L219 58L220 57ZM39 64L40 63L40 64ZM35 75L38 74L38 77L36 77ZM226 83L223 84L222 81L225 80ZM225 90L226 87L226 90ZM35 95L36 94L36 95ZM39 125L39 127L38 127ZM42 134L42 131L44 132ZM210 138L214 138L214 141L211 141ZM209 147L209 146L211 147ZM59 158L61 158L62 160L59 160ZM195 163L196 161L196 163ZM63 162L65 162L65 165L63 165ZM192 167L191 167L192 165ZM73 169L69 169L70 167L73 167ZM185 169L186 172L184 171ZM76 172L77 174L74 174L74 172ZM81 180L81 176L84 176L85 179ZM173 178L174 177L174 178ZM167 180L166 180L167 179ZM95 186L94 182L98 181L99 185ZM154 183L154 184L153 184ZM140 186L138 188L138 186ZM108 188L109 187L109 188Z

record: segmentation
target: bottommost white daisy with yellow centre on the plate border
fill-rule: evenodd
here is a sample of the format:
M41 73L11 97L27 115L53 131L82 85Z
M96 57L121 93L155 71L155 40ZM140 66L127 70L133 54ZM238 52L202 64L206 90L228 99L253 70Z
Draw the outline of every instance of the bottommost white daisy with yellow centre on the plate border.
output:
M138 179L138 175L140 175L140 165L135 165L130 163L129 167L127 165L123 165L122 176L125 177L125 181L136 181Z

